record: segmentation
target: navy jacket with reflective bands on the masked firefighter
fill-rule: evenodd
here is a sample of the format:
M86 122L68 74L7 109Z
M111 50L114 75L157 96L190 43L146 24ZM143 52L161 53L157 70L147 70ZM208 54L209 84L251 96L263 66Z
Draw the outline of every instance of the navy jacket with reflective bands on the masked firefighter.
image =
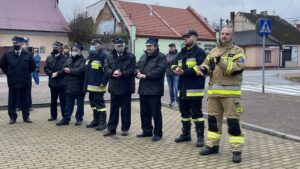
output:
M104 74L104 60L107 54L102 50L97 53L91 53L85 62L85 92L101 92L106 91L108 77ZM102 87L100 87L102 86Z

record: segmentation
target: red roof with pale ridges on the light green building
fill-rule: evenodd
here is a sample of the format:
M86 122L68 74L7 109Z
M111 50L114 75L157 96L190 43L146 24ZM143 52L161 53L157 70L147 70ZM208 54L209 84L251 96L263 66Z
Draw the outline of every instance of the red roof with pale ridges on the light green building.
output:
M137 36L181 38L186 30L195 29L199 39L215 40L214 31L191 7L180 9L124 1L114 3L125 22L136 26Z

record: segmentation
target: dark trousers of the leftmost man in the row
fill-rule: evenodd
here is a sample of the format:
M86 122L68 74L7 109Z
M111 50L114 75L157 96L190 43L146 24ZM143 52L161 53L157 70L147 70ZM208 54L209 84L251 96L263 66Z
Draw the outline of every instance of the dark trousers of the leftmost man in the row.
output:
M16 109L20 106L22 110L23 120L29 118L29 87L21 89L9 88L8 91L8 115L10 119L16 120L18 115Z

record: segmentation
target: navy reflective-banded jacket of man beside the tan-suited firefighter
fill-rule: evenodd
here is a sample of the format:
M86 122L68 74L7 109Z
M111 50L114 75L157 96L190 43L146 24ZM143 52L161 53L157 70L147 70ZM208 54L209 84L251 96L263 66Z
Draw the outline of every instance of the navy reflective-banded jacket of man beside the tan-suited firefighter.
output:
M184 71L179 76L179 97L183 99L202 99L204 96L205 77L200 75L198 66L205 60L205 52L194 45L191 49L184 47L173 62L172 69L181 67Z

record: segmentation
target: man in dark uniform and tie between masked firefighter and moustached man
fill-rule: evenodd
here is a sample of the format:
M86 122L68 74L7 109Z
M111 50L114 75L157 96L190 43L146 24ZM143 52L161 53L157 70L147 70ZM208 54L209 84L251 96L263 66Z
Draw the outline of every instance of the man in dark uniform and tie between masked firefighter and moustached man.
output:
M135 91L135 56L125 48L125 41L117 38L113 41L114 50L105 60L104 70L109 77L110 115L108 129L104 136L116 134L121 108L122 136L128 135L131 124L131 95Z

